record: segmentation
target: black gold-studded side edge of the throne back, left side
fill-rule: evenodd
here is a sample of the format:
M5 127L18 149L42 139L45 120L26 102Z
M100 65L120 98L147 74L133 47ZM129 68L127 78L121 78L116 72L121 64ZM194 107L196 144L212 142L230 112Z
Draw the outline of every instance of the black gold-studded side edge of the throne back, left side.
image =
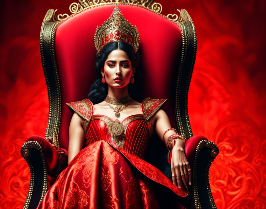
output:
M58 132L61 120L61 87L55 56L55 31L61 22L53 22L53 9L44 17L40 34L40 54L49 99L49 118L45 139L53 137L59 147Z

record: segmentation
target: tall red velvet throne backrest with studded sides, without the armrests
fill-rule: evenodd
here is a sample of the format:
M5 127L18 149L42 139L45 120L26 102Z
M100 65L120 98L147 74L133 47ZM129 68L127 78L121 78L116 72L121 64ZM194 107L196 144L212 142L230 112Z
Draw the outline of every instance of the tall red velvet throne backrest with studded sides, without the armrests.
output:
M88 95L95 81L94 34L112 13L115 4L73 4L75 13L56 21L49 10L41 32L41 57L49 95L49 121L45 138L52 136L60 148L68 148L72 114L66 103ZM193 22L186 10L173 21L161 15L160 4L117 3L124 17L140 34L141 72L134 85L141 85L140 98L167 99L164 110L172 127L192 137L187 99L195 62L197 41ZM72 6L72 7L73 7ZM159 12L158 12L159 11ZM60 18L60 15L58 15ZM51 21L55 22L51 22ZM51 31L51 32L50 32ZM46 47L50 44L50 47ZM141 79L141 80L140 80ZM139 102L142 102L139 101Z

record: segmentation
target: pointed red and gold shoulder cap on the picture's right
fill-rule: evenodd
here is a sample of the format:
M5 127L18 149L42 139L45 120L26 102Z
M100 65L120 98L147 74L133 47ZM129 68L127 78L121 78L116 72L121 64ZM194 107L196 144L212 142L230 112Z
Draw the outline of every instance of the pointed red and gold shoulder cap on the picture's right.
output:
M145 119L150 119L160 107L165 105L167 99L151 99L151 97L147 97L141 103L141 109L143 114L145 115Z

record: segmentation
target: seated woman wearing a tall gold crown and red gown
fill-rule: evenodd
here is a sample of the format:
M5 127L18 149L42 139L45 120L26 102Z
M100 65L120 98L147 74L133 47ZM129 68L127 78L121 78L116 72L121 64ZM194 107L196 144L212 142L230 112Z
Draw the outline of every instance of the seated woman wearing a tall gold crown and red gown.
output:
M40 208L183 208L191 169L186 139L171 128L162 110L166 99L132 99L139 62L137 28L116 6L96 30L98 77L88 99L67 103L74 113L69 126L68 167L45 194ZM173 183L143 160L156 132L171 155ZM85 148L83 148L85 145Z

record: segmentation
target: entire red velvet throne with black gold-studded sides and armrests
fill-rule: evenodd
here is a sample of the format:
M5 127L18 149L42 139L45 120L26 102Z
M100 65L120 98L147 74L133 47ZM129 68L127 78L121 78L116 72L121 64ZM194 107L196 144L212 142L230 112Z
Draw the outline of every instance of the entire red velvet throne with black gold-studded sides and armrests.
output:
M24 208L36 208L47 189L67 166L72 113L66 103L80 101L88 95L95 80L94 33L96 27L109 18L115 4L118 4L129 23L137 26L140 34L141 79L136 79L134 84L144 87L140 98L168 98L164 110L172 127L188 139L193 136L187 101L197 38L188 12L181 9L179 15L161 15L161 4L153 0L112 2L80 0L70 5L69 9L73 13L70 16L56 15L53 9L49 9L45 15L40 51L49 96L49 119L45 138L31 136L21 148L21 154L31 170ZM53 137L54 146L48 141L49 137ZM154 139L148 147L157 148L153 151L156 154L148 148L147 153L152 156L151 164L164 172L164 166L156 162L170 166L167 163L167 149L158 137ZM192 202L190 208L216 208L208 172L219 153L217 146L204 137L196 137L193 141L187 141L185 149L191 153L187 157L193 183L184 201Z

